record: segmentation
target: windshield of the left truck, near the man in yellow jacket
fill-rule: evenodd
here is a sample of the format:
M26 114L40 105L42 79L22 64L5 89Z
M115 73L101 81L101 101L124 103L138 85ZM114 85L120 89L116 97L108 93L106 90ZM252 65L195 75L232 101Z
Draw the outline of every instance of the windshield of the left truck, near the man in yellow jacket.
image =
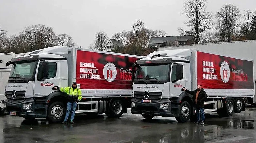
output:
M8 82L28 82L32 80L36 61L34 62L15 62L12 66Z

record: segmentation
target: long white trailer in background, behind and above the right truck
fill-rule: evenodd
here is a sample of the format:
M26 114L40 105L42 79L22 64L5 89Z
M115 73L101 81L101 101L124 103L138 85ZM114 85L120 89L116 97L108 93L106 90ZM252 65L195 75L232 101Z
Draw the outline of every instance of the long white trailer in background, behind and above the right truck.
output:
M198 49L208 52L221 53L232 57L239 57L243 59L251 59L256 61L256 40L235 41L235 42L221 42L221 43L208 43L208 44L195 44L195 45L182 45L182 46L168 46L159 47L157 51L174 50L174 49ZM254 73L256 66L254 66ZM256 81L256 74L254 74ZM193 89L195 89L194 85ZM246 100L248 104L255 104L256 98L249 97Z

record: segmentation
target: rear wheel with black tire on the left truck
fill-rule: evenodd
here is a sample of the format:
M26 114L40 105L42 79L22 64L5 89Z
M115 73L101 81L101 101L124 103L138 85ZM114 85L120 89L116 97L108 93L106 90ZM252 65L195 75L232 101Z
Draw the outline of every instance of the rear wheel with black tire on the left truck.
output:
M124 113L124 103L121 100L114 100L110 105L110 116L120 117Z

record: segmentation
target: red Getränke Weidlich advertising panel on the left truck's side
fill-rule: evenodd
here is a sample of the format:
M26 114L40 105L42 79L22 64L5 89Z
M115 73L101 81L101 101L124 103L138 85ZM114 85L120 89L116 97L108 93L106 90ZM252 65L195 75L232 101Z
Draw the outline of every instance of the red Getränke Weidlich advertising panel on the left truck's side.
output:
M80 89L129 89L132 64L139 59L77 50L76 82Z

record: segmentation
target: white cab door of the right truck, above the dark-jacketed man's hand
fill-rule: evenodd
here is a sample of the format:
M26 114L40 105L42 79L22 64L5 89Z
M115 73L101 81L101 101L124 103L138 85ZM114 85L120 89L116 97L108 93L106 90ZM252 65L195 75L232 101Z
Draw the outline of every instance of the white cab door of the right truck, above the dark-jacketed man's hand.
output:
M185 65L184 63L172 63L170 76L170 96L179 96L181 88L185 87Z

